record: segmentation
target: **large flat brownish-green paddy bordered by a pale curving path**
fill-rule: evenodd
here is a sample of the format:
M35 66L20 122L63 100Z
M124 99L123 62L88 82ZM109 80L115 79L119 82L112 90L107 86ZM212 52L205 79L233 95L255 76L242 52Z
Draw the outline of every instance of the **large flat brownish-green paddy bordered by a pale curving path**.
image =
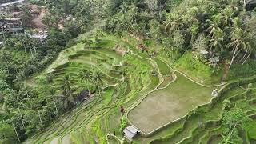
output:
M130 111L128 118L139 130L150 133L182 118L196 106L206 104L213 98L213 87L198 86L182 74L176 75L176 81L162 90L150 93Z

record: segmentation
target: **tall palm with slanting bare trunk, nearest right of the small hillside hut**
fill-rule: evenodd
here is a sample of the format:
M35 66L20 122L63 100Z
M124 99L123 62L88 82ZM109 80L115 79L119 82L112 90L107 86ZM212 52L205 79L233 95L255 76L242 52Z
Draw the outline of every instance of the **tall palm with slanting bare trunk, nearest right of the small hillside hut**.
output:
M227 45L228 47L232 47L233 51L230 66L233 64L234 59L241 52L241 50L246 50L246 42L244 41L245 36L246 32L241 28L236 28L231 33L231 42Z

